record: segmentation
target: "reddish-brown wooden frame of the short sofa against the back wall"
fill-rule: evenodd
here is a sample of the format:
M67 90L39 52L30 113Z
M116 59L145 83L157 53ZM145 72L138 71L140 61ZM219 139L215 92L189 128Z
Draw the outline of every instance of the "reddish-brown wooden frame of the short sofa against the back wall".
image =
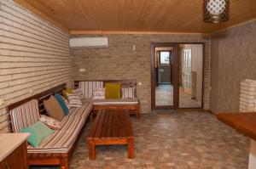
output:
M74 87L79 87L79 82L103 82L104 84L106 82L110 83L120 83L121 87L134 87L134 96L137 98L137 81L136 80L86 80L86 81L74 81ZM90 114L90 119L92 118L92 115L96 115L96 113L99 110L104 109L113 109L113 110L129 110L131 114L135 114L137 118L140 116L140 103L138 104L105 104L100 105L96 104L93 106L93 113Z

